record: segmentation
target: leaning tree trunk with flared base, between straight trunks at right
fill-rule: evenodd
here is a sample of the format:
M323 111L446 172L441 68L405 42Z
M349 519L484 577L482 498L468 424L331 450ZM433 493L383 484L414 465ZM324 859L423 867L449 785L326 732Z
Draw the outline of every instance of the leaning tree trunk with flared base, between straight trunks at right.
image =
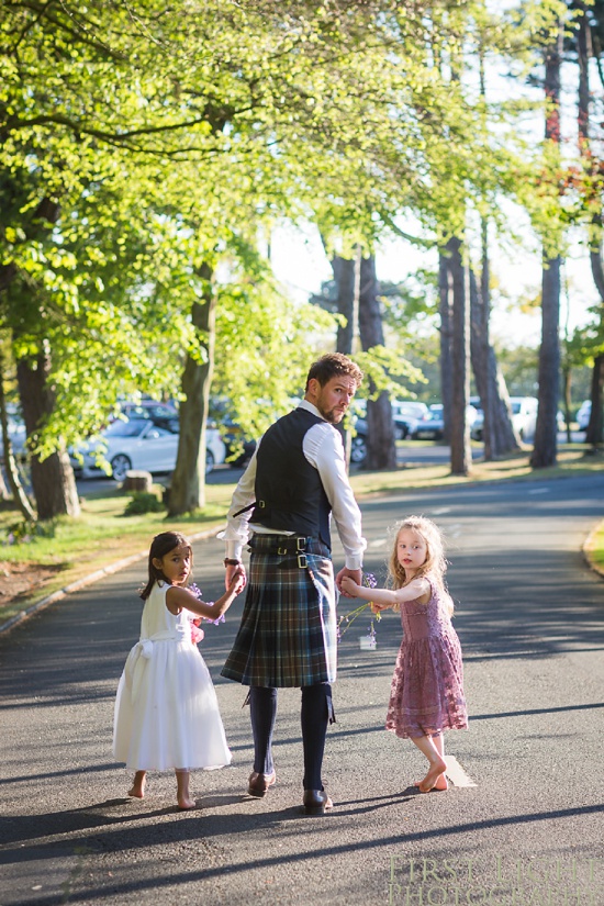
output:
M489 302L485 293L485 280L481 280L479 292L476 277L470 271L470 353L484 416L484 459L491 461L518 450L521 441L512 422L505 379L501 373L495 350L489 342Z

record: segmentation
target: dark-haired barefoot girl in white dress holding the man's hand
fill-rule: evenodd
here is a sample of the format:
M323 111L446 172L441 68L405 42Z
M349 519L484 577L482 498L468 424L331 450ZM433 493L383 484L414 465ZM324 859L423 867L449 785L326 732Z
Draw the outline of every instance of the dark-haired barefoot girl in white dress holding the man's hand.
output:
M149 580L141 639L131 650L115 701L113 754L134 769L128 796L143 798L147 771L174 768L179 808L194 808L190 770L231 762L216 693L192 641L191 619L215 620L243 590L236 571L228 591L206 604L186 589L192 551L176 532L157 535L149 550Z

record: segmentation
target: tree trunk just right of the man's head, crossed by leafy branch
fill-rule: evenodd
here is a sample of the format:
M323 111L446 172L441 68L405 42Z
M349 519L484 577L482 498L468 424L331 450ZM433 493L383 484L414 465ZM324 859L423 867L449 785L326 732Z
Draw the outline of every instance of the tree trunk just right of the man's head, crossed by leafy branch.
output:
M359 335L365 351L383 346L382 313L378 299L376 258L361 258L359 287ZM369 381L369 393L376 387ZM367 401L367 469L395 469L396 445L390 398L382 391L377 400Z

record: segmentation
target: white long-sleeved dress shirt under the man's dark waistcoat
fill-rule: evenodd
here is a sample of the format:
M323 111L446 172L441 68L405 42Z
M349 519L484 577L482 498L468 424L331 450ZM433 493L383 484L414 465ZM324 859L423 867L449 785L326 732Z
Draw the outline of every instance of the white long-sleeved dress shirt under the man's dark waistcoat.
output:
M323 418L316 406L309 403L307 400L302 400L299 409L305 409L307 412L312 412L313 415ZM294 534L292 532L279 532L279 528L267 528L262 525L250 524L251 510L247 510L238 516L234 515L256 499L256 455L261 443L260 439L249 466L239 479L226 517L226 529L220 536L226 541L226 556L234 560L242 559L242 550L244 545L247 544L250 532L258 534ZM347 569L360 569L367 541L361 535L360 510L346 472L342 435L329 422L323 420L321 424L309 428L304 435L302 450L306 460L321 476L323 488L332 507L332 516L344 547L345 564Z

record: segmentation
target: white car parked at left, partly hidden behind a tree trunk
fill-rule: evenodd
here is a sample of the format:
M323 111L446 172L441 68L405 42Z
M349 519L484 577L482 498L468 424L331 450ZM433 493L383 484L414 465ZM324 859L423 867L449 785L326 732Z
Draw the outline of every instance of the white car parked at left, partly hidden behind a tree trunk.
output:
M131 469L146 472L171 472L178 452L178 422L170 427L156 425L149 418L119 420L101 434L78 448L83 461L71 455L76 472L85 477L103 472L99 456L111 468L112 478L123 481ZM205 473L224 462L226 448L216 428L205 430Z

